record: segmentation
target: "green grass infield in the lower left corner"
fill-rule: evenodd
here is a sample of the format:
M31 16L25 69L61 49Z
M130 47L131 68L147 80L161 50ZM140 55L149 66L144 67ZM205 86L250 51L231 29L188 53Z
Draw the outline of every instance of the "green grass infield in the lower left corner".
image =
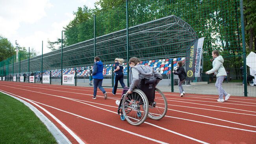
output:
M57 144L25 104L0 93L0 144Z

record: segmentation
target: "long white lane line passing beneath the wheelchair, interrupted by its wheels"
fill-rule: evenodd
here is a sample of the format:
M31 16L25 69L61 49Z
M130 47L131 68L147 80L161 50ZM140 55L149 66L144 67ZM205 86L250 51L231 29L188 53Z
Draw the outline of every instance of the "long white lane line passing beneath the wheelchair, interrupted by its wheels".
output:
M4 86L4 85L3 85L3 86ZM11 87L11 86L7 86L7 87ZM11 87L11 88L15 88L15 87ZM21 88L17 88L17 89L21 89ZM24 89L21 89L21 90L24 90ZM35 91L32 91L32 90L27 90L27 91L35 92ZM41 92L36 92L36 93L44 94L44 93L41 93ZM46 94L46 95L50 95L50 94ZM62 97L62 96L58 96L58 95L52 95L52 96ZM64 98L64 99L69 99L69 100L72 100L72 101L76 101L76 100L73 100L73 99L70 99L70 98L66 98L66 97L62 97L62 98ZM83 103L83 102L81 102L81 101L76 101L76 102ZM87 104L87 103L83 103L83 104ZM101 110L106 110L106 109L104 109L104 108L100 108L100 107L98 107L98 106L94 106L94 105L91 105L91 104L87 104L87 105L93 106L93 107L95 107L95 108L99 108L99 109L101 109ZM111 110L106 110L106 111L111 112L111 113L115 113L115 114L117 113L117 112L113 112L113 111L111 111ZM146 124L150 124L150 123L147 122ZM197 142L200 142L200 143L203 143L203 144L208 144L207 142L203 142L203 141L197 140L197 139L195 139L195 138L193 138L193 137L189 137L189 136L183 135L183 134L181 134L181 133L177 133L177 132L175 132L175 131L168 130L168 129L166 129L166 128L157 126L157 125L155 125L155 124L150 124L150 125L155 126L155 127L157 127L157 128L160 128L161 130L169 131L169 132L174 133L174 134L176 134L176 135L180 135L180 136L182 136L182 137L186 137L186 138L191 139L191 140L196 140Z

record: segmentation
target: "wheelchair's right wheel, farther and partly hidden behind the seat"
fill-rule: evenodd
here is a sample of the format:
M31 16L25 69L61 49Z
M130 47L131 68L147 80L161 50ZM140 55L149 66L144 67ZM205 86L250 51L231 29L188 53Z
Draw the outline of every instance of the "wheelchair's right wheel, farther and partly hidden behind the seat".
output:
M167 100L158 88L156 88L154 103L149 104L148 111L148 117L154 120L162 119L167 112Z

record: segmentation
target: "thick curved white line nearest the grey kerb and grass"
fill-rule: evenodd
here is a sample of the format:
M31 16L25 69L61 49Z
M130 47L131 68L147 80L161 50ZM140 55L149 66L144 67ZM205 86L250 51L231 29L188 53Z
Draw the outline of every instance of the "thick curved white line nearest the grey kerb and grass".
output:
M3 92L6 92L4 90L1 90ZM6 93L9 93L9 92L6 92ZM9 93L11 95L15 95L15 94L12 94L12 93ZM19 95L15 95L17 97L20 97ZM20 97L22 99L26 99L24 97ZM33 103L30 99L26 99L27 101L29 101L30 103ZM45 111L48 115L50 115L50 117L52 117L56 122L58 122L70 135L72 135L72 137L74 137L74 139L76 139L76 141L79 143L79 144L85 144L83 142L83 140L81 140L72 130L70 130L65 124L63 124L63 122L59 121L59 119L57 117L55 117L52 113L48 112L45 108L39 106L38 104L36 103L33 103L35 104L36 106L38 106L39 108L41 108L43 111Z

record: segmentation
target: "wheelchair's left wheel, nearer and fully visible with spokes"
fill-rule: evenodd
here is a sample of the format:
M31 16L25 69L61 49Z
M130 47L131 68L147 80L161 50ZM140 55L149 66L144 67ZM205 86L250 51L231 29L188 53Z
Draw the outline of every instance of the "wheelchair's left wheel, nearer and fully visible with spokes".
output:
M147 96L136 88L132 94L126 93L122 100L122 112L126 121L134 126L139 126L148 116Z

